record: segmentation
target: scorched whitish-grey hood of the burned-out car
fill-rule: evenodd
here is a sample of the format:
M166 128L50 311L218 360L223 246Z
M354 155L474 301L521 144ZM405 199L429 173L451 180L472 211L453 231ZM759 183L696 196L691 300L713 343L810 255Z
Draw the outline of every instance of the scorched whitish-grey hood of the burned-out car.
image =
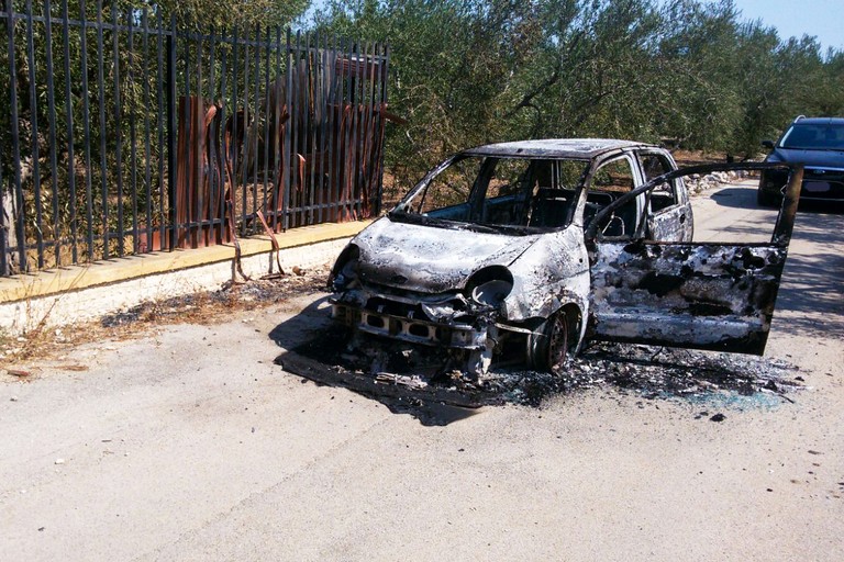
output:
M360 249L364 283L442 293L463 289L469 277L487 266L509 266L530 248L536 236L486 234L376 221L353 244Z

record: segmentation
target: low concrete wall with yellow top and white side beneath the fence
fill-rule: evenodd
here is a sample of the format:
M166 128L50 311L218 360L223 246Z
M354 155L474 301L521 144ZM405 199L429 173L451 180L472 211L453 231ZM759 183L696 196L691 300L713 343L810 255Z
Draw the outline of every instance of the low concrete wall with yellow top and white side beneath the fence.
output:
M330 263L370 222L325 224L276 235L286 271ZM275 272L268 236L241 240L249 277ZM0 330L23 334L37 326L90 321L142 302L220 288L232 279L234 247L147 254L32 276L0 279Z

